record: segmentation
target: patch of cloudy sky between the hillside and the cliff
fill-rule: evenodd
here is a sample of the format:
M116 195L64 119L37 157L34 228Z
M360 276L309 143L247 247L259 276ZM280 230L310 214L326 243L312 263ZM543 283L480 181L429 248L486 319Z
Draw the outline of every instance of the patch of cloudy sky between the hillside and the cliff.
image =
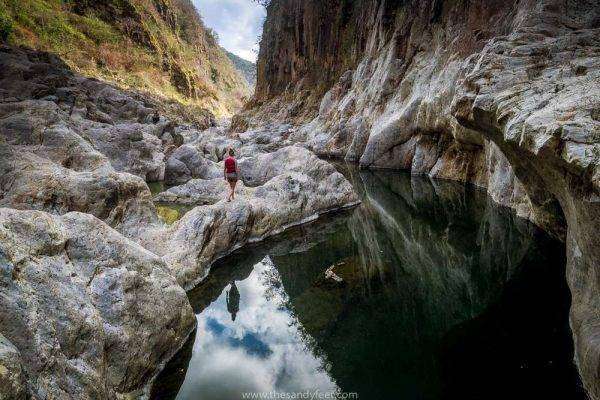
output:
M219 35L225 49L255 62L258 37L266 14L264 7L252 0L193 0L204 24Z

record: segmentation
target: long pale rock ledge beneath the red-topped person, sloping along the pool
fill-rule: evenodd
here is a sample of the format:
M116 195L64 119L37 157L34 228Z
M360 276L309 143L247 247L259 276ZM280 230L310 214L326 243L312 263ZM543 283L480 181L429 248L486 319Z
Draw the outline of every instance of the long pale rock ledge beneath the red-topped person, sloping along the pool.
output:
M190 288L206 277L214 260L233 249L358 202L337 171L320 176L286 172L248 194L231 203L196 207L146 246L163 255L179 284Z

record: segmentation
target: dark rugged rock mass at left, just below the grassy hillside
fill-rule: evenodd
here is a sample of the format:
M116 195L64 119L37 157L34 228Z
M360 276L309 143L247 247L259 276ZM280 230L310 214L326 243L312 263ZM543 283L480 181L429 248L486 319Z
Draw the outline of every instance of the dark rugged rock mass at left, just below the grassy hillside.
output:
M0 48L0 69L0 131L9 142L44 148L49 137L55 156L100 153L117 171L163 178L161 126L149 120L155 111L137 95L76 76L58 58L24 49Z

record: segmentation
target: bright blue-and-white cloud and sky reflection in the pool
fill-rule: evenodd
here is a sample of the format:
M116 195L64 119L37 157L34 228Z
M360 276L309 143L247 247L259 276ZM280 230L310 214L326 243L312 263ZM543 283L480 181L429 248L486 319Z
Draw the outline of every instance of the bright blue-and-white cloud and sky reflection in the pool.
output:
M239 398L242 392L335 391L325 362L315 355L266 257L237 282L240 310L227 311L226 291L197 316L194 343L179 400Z

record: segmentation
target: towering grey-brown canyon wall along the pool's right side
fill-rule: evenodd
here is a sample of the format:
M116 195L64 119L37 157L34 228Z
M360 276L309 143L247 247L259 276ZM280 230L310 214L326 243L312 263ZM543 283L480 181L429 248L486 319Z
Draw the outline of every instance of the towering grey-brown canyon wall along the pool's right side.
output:
M275 0L232 129L486 187L566 242L576 362L600 398L600 4Z

